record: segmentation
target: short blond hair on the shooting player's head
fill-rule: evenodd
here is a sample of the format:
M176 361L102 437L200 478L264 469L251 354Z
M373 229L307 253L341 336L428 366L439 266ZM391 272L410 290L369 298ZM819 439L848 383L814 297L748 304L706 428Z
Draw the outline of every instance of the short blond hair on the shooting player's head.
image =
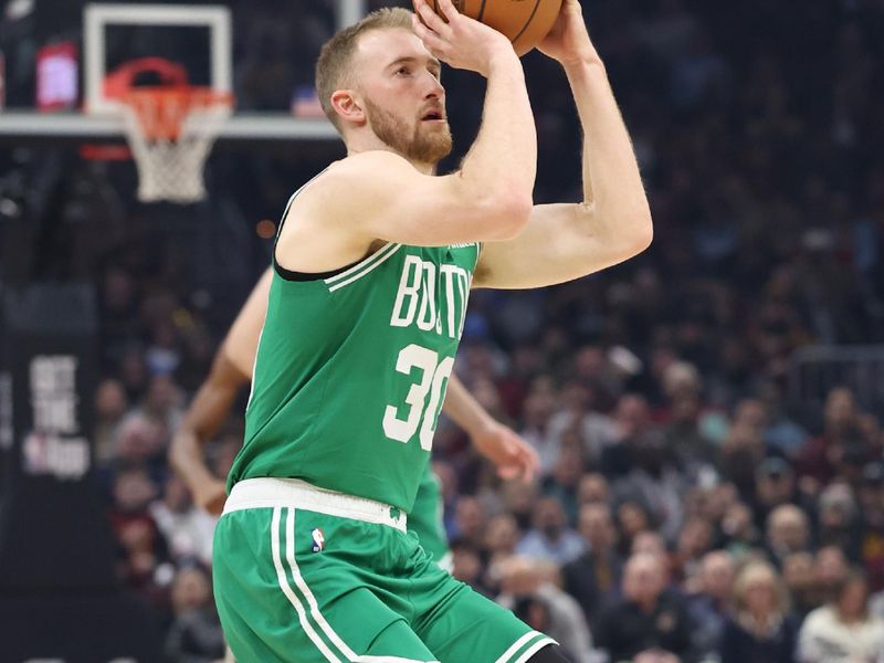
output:
M390 28L411 31L411 12L400 7L378 9L358 23L338 30L323 44L319 60L316 61L316 94L323 105L323 112L338 131L341 128L340 118L332 106L332 95L349 83L352 54L356 52L359 38L371 30Z

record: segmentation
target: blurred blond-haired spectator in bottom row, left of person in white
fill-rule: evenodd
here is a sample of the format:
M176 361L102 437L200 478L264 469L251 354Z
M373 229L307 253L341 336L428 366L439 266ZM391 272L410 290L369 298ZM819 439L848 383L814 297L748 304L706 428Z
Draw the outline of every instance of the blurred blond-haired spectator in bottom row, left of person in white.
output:
M734 615L718 654L722 663L792 663L798 627L788 614L786 590L769 564L750 561L737 576Z

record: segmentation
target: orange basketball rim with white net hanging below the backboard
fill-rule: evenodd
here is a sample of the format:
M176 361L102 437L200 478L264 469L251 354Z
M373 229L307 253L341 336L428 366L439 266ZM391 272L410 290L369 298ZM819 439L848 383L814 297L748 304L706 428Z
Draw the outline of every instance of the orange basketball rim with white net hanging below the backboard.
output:
M202 168L233 96L209 87L130 87L117 97L138 166L138 199L197 202L206 198Z

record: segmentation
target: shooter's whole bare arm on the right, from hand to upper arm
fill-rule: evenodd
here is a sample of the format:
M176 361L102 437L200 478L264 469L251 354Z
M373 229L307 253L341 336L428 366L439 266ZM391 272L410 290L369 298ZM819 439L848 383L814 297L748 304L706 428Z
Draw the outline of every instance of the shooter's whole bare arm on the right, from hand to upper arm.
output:
M477 287L538 287L578 278L640 253L653 235L632 143L577 0L566 0L545 44L565 67L583 128L583 201L536 206L519 235L485 244L473 282Z

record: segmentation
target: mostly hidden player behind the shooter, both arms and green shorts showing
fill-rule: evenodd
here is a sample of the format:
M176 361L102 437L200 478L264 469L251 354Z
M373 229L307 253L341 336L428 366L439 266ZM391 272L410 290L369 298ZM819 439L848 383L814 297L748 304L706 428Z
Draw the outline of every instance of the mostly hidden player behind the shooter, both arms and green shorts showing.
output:
M172 466L187 483L196 504L215 515L221 514L227 491L224 482L206 465L203 448L227 419L240 389L252 379L272 277L267 270L255 284L172 440ZM495 421L454 376L442 410L470 434L480 453L498 465L504 478L520 476L527 481L534 476L539 465L537 452L512 429ZM439 483L428 463L409 512L408 529L418 535L436 564L450 570L451 551L441 516Z

